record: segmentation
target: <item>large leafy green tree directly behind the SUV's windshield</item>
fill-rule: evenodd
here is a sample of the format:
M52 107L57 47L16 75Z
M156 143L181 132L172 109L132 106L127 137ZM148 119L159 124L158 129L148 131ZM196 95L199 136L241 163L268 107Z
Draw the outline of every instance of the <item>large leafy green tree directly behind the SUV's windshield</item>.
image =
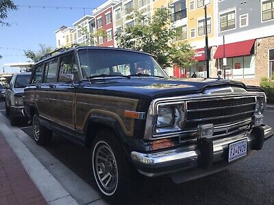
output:
M115 33L119 47L145 51L155 56L162 68L176 64L180 68L195 63L194 51L187 42L172 44L179 35L171 24L171 12L158 8L153 18L134 12L135 25L127 26Z

